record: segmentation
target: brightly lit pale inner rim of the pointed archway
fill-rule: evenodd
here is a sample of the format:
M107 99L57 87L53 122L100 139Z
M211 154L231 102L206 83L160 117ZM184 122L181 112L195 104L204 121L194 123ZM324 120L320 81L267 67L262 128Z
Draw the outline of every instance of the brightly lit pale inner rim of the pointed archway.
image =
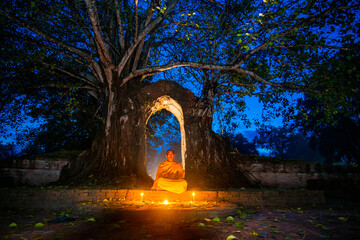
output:
M176 102L174 99L172 99L169 96L161 96L158 99L156 99L152 105L149 106L150 109L145 110L145 125L147 125L150 117L156 113L157 111L160 111L162 109L166 109L167 111L174 114L176 119L178 120L180 124L180 134L181 134L181 163L183 165L183 168L185 169L185 153L186 153L186 135L185 135L185 128L184 128L184 114L182 107L178 102ZM146 164L146 159L145 159Z

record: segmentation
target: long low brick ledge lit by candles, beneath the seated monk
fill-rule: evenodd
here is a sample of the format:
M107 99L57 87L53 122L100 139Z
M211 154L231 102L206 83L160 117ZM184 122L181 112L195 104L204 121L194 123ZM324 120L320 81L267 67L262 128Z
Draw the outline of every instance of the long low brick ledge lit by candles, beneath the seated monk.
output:
M142 193L142 196L141 196ZM129 189L0 189L1 208L61 208L89 201L216 201L247 207L307 207L326 204L324 191L245 189L234 191L167 191Z

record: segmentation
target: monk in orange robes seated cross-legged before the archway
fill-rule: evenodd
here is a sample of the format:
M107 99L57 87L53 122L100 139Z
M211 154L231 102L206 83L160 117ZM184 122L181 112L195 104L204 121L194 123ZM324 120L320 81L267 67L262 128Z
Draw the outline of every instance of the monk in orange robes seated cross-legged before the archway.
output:
M174 157L174 150L166 151L167 159L159 165L151 190L166 190L178 194L186 191L185 171L181 163L174 161Z

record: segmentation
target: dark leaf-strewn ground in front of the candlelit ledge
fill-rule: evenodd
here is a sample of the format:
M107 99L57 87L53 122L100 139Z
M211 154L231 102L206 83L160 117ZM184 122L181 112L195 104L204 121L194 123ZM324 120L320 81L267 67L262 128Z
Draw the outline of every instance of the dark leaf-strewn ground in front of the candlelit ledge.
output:
M221 212L226 206L88 202L56 210L2 209L0 234L3 239L22 240L360 239L360 208L354 203L332 200L326 207L308 209L235 206L235 212ZM182 214L196 209L205 215Z

